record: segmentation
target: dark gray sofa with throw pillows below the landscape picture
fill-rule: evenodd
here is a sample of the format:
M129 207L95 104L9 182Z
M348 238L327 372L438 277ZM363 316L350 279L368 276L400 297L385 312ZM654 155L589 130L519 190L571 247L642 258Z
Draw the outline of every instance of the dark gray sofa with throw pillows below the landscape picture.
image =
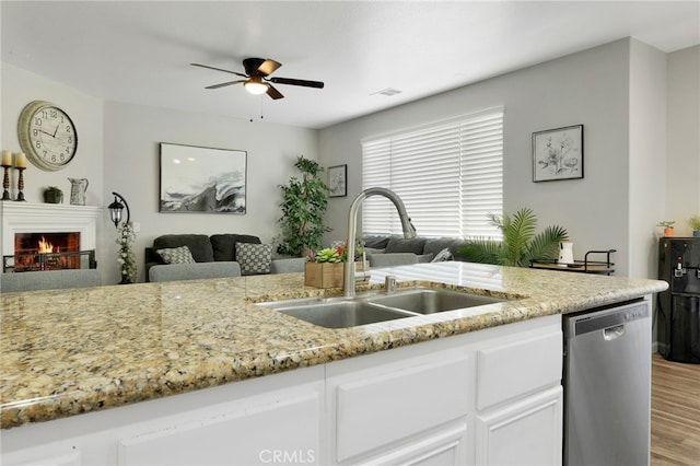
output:
M261 256L269 258L265 271L255 267L247 267L236 245L245 243L259 245L258 263ZM191 254L194 264L188 263L166 263L158 253L162 249L177 249L187 246ZM153 246L145 248L145 280L194 280L203 278L238 277L241 275L258 273L291 273L304 271L303 257L281 257L278 256L271 245L262 245L258 236L244 234L166 234L153 240ZM259 253L259 254L258 254ZM265 260L262 258L262 260ZM234 263L234 264L232 264ZM156 268L158 267L158 268ZM254 271L250 271L254 270ZM153 273L151 273L153 271Z

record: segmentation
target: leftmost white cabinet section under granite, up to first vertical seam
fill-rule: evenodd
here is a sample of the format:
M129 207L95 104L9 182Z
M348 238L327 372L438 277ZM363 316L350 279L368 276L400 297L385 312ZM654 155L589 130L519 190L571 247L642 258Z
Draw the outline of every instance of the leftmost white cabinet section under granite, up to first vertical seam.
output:
M2 431L2 465L319 464L324 368Z

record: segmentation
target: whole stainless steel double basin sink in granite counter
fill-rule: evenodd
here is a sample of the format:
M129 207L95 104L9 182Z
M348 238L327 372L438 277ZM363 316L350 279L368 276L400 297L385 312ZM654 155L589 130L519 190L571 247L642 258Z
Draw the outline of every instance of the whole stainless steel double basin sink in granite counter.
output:
M347 328L503 301L506 300L428 287L412 287L390 293L366 292L355 296L306 298L258 305L322 327Z

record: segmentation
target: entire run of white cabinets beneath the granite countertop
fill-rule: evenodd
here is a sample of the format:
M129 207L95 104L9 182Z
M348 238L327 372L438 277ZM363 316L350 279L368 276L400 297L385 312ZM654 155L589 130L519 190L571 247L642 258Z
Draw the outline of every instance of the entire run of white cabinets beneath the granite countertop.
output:
M3 430L2 464L561 463L548 316Z

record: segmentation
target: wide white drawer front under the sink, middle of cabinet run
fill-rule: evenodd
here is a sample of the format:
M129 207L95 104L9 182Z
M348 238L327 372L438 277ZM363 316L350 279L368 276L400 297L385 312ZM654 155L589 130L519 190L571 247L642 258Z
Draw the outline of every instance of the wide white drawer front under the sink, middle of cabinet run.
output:
M466 416L468 358L374 373L336 389L336 457L390 444Z

